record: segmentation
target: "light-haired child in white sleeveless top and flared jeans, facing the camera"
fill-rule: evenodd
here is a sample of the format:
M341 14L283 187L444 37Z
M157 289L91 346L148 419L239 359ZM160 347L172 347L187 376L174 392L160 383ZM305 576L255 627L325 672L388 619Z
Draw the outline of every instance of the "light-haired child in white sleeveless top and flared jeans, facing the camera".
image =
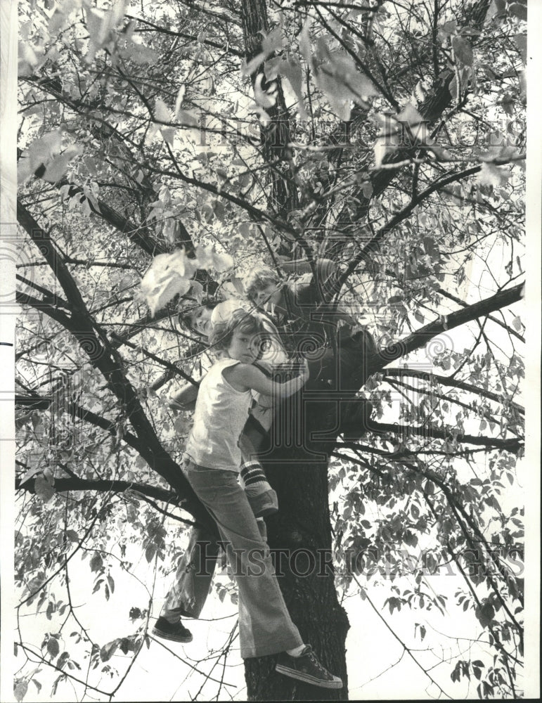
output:
M279 654L276 670L323 688L342 688L302 642L280 592L267 543L259 534L245 491L238 484L238 441L252 392L280 399L302 389L301 375L276 383L254 366L264 334L262 321L243 310L214 325L210 342L221 352L202 380L188 437L183 472L217 522L238 586L241 656Z

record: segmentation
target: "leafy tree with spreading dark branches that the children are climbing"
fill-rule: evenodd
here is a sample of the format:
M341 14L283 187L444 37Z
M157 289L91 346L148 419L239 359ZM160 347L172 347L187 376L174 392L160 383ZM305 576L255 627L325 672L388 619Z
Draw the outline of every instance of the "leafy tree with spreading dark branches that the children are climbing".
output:
M18 613L35 603L61 619L41 647L21 636L22 652L58 669L55 690L103 690L79 662L108 672L116 651L148 643L148 610L136 633L93 643L69 569L91 555L108 598L134 543L171 559L164 514L212 529L179 472L186 418L162 393L206 354L176 313L238 292L262 258L280 270L328 256L341 304L378 337L352 370L375 413L361 439L337 437L337 401L293 399L304 426L266 457L270 546L302 557L280 579L292 617L346 682L337 588L354 581L372 602L385 569L391 616L442 610L424 574L451 563L483 640L451 680L520 695L522 510L501 494L523 445L526 3L155 0L143 14L65 0L22 13ZM154 259L149 311L140 282L158 254L175 263L160 273ZM425 563L396 585L422 543ZM335 575L319 568L331 554ZM294 685L270 657L245 670L250 699L347 697ZM18 699L31 679L23 669Z

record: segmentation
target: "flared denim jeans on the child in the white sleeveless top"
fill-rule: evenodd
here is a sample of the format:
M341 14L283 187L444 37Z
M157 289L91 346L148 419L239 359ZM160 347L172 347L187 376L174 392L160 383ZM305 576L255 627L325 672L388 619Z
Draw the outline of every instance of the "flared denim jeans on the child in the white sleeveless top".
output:
M181 467L226 546L238 587L241 657L265 657L298 647L303 640L280 592L269 546L238 484L238 472L198 466L186 456Z

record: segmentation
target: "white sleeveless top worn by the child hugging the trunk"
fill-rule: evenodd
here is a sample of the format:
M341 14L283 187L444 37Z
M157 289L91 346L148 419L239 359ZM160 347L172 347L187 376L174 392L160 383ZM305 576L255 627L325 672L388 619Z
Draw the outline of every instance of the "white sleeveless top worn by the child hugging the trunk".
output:
M222 373L237 363L237 359L220 359L200 383L194 424L186 442L186 453L200 466L240 470L238 442L252 395L250 391L235 390Z

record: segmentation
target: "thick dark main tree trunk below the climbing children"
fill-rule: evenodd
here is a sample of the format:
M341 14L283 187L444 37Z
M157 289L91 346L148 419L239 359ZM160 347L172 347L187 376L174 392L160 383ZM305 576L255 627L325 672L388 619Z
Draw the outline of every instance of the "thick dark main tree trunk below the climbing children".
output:
M274 671L276 655L245 660L249 700L347 700L346 612L335 590L328 495L328 456L334 441L311 440L311 432L335 430L335 403L288 399L278 412L271 449L262 457L278 494L279 512L267 518L269 546L280 588L304 643L312 645L341 690L318 688ZM302 421L297 422L297 418ZM323 419L325 418L325 419ZM281 420L284 429L281 430ZM288 420L290 420L288 422Z

